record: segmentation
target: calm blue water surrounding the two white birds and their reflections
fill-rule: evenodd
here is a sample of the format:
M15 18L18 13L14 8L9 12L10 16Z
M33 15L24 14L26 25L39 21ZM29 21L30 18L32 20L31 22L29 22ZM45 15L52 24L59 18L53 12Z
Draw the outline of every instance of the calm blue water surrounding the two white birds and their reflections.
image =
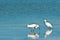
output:
M44 19L53 24L46 39ZM31 23L40 25L37 40L60 40L60 0L0 0L0 40L33 40L27 37Z

